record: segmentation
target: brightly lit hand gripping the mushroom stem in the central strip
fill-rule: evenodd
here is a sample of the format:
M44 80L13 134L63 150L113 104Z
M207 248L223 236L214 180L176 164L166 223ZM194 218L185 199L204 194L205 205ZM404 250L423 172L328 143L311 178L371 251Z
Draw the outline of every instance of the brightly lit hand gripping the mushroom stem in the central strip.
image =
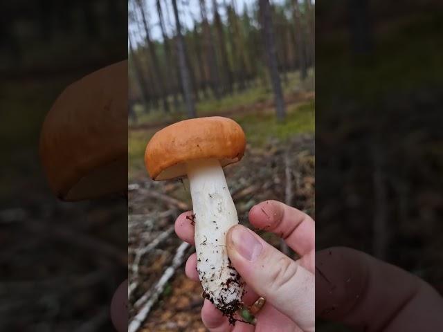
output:
M184 212L177 218L175 231L183 241L194 245L194 226L186 219L191 213ZM226 249L231 264L246 282L243 302L251 306L264 297L266 304L255 314L255 326L244 322L231 326L221 311L205 299L201 309L205 326L211 332L314 331L314 221L278 201L255 205L249 212L249 221L255 228L278 234L300 259L293 261L242 225L230 228ZM190 279L199 280L195 254L188 258L185 270Z

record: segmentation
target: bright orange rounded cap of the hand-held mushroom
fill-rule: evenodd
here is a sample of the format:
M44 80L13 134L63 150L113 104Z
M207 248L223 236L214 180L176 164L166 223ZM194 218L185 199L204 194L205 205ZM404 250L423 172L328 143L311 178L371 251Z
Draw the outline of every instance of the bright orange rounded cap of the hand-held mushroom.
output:
M218 159L224 167L242 159L246 138L234 120L220 116L171 124L155 133L145 150L145 165L156 181L186 176L186 162Z

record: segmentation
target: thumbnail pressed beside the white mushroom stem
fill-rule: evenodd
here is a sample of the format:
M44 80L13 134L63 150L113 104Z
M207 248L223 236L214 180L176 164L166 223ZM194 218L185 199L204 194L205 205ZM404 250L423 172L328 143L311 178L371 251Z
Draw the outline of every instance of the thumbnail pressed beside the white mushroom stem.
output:
M248 261L255 260L262 252L262 243L255 238L248 228L236 226L231 232L230 239L235 250Z

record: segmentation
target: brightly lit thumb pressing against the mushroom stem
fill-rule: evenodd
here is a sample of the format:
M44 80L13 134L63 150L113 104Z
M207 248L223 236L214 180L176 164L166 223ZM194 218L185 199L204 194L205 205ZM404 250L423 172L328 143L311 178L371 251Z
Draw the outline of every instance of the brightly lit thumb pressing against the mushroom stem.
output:
M230 228L226 249L231 264L255 293L303 331L314 331L314 274L242 225Z

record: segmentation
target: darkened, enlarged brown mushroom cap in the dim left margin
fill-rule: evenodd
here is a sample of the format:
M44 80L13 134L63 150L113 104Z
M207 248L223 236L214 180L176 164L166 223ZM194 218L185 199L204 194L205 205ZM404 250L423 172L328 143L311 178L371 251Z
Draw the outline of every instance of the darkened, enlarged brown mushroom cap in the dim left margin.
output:
M44 120L40 156L64 201L127 193L127 60L62 92Z

